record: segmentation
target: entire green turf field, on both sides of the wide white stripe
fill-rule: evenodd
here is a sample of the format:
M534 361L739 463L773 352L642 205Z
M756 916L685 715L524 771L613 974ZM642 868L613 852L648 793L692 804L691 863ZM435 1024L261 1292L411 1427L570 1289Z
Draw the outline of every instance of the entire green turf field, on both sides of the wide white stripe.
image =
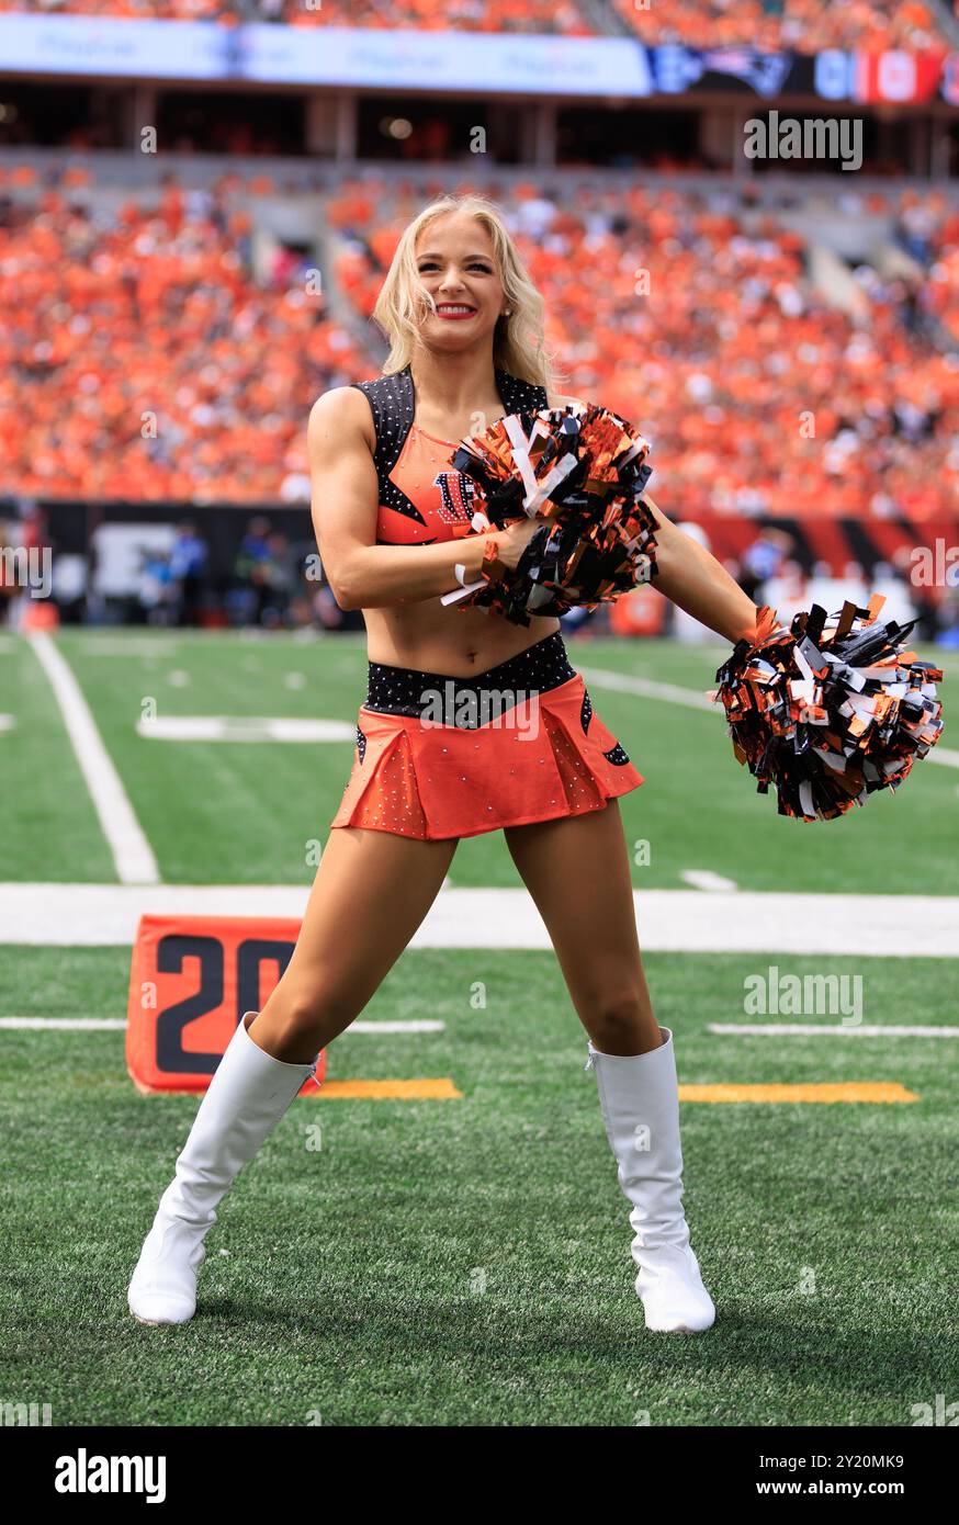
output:
M352 721L357 640L56 644L163 881L311 881L305 848L325 837L349 743L165 743L136 723L151 697L160 714ZM698 691L724 651L569 648L584 668ZM755 795L721 715L589 686L648 778L621 802L630 840L651 845L639 889L700 869L743 891L956 894L956 769L918 764L898 795L800 825ZM6 633L0 714L15 721L0 730L0 881L114 883L47 679ZM450 878L517 884L499 834L460 843ZM869 1023L957 1020L948 958L646 955L682 1084L892 1081L915 1098L683 1103L686 1209L718 1310L695 1337L643 1327L628 1203L547 952L407 950L364 1019L445 1029L346 1034L329 1075L450 1077L460 1100L294 1103L224 1200L181 1328L136 1324L127 1283L197 1098L140 1096L119 1031L0 1031L0 1394L50 1403L55 1424L909 1426L913 1405L951 1403L957 1040L709 1031L744 1020L744 981L771 962L860 974ZM128 947L0 942L0 1017L122 1019L128 970Z

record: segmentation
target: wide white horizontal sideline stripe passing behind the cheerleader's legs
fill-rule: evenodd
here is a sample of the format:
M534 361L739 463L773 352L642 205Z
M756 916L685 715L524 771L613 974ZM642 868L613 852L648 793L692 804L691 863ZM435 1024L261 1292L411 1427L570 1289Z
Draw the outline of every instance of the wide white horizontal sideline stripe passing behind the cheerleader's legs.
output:
M0 944L130 946L143 913L302 918L308 884L0 883ZM959 958L959 897L634 891L640 946L677 953ZM412 947L549 949L524 889L441 889Z

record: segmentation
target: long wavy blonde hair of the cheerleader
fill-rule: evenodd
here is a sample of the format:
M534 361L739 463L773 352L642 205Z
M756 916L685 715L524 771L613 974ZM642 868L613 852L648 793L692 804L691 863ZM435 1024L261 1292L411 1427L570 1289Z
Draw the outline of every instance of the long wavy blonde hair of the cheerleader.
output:
M500 209L485 195L474 192L438 197L404 229L372 311L374 322L390 343L383 375L395 375L409 366L419 340L418 319L424 310L435 308L433 297L416 270L416 242L430 223L451 212L474 217L492 241L496 267L509 308L509 316L500 316L492 331L492 364L521 381L532 381L534 386L555 387L561 372L544 348L546 303L520 259Z

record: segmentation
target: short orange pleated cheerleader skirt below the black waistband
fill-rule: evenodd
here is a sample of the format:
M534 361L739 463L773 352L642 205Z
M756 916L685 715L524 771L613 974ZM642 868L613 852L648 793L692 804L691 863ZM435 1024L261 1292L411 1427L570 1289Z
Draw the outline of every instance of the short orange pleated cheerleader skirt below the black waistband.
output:
M604 810L642 782L576 674L471 729L361 706L331 827L474 837Z

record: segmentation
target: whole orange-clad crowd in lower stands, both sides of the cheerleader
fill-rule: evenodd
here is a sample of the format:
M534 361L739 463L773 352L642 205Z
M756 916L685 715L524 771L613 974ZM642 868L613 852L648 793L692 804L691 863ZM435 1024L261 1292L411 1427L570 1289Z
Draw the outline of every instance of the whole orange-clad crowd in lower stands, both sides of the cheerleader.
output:
M2 491L233 502L305 491L310 404L377 374L383 348L363 319L403 226L438 186L374 174L328 194L351 328L306 294L306 262L290 250L255 278L255 214L227 186L169 186L154 210L131 195L116 215L90 217L69 186L11 203ZM807 281L802 236L723 188L624 177L570 183L560 198L532 180L494 194L546 297L563 389L648 433L674 509L953 512L959 364L906 320L901 281L871 271L858 319L826 305ZM854 198L849 217L857 207L922 221L927 262L909 311L959 342L959 215L919 191ZM253 354L267 358L253 368Z

